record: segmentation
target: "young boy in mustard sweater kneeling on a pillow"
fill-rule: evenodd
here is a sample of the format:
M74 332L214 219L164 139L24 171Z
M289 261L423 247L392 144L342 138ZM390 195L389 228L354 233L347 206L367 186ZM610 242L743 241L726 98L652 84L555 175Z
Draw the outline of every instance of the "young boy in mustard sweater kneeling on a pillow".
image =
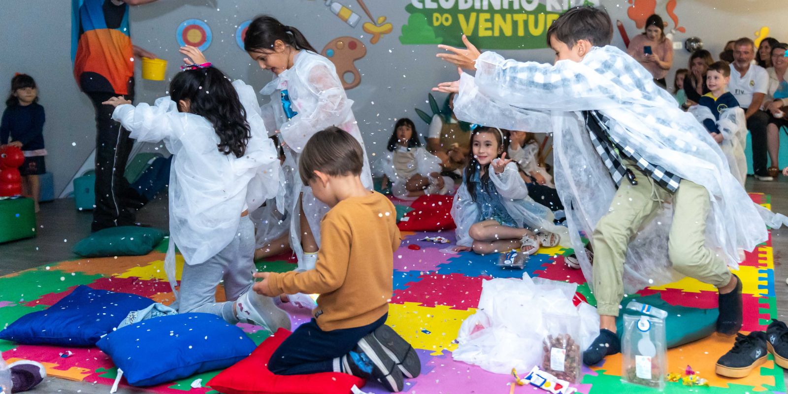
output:
M320 225L314 269L255 273L265 296L318 293L311 322L300 325L273 353L274 374L343 372L381 382L392 392L421 372L418 355L383 324L393 292L394 251L400 247L396 211L361 183L363 153L353 136L331 127L303 148L299 173L314 196L331 207Z

